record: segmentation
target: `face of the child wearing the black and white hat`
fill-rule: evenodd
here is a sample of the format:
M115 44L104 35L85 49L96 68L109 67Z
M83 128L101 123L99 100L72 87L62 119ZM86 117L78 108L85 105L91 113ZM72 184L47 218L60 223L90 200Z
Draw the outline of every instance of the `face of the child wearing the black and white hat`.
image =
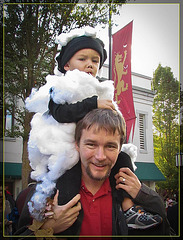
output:
M92 76L96 77L97 72L100 66L100 55L97 51L86 48L81 49L76 52L73 57L66 63L64 69L74 70L78 69L82 72L86 72L91 74Z

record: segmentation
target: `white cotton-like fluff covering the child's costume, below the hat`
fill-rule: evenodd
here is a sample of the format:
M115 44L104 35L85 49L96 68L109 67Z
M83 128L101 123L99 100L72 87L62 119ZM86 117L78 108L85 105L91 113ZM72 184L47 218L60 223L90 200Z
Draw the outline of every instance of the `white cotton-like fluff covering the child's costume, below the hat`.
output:
M79 70L68 71L61 76L48 75L46 81L39 90L33 89L26 99L26 108L35 112L31 121L28 153L33 169L31 177L41 183L31 199L33 205L29 202L29 210L37 219L41 219L41 209L44 209L46 198L55 187L55 181L79 160L74 143L76 124L58 123L46 113L50 89L53 101L62 104L76 103L93 95L97 95L99 99L113 100L114 95L113 81L99 82L98 79ZM118 110L117 104L114 104ZM124 144L122 151L127 152L133 162L135 161L137 149L133 144Z

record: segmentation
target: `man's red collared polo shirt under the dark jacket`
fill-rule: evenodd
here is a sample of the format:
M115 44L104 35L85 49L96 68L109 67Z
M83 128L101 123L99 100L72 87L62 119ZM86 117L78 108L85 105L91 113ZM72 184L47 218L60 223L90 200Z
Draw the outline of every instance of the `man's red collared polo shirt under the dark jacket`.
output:
M81 204L84 219L80 235L112 235L112 195L109 179L107 178L98 192L93 195L88 191L84 182L81 183Z

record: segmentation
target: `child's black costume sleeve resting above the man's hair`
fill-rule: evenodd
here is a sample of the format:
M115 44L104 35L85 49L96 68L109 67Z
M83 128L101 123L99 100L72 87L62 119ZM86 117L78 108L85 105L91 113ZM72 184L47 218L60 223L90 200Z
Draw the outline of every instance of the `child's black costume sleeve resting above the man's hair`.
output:
M56 104L52 99L48 104L49 112L59 123L78 122L88 112L97 108L97 96L86 98L73 104Z

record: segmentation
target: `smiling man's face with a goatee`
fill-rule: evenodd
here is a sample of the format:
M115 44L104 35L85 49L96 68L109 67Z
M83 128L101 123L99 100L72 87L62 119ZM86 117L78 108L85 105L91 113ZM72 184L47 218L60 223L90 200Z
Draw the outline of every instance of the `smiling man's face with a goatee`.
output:
M76 145L80 154L83 177L104 181L116 163L120 152L120 135L105 129L96 131L95 125L83 130L80 143Z

